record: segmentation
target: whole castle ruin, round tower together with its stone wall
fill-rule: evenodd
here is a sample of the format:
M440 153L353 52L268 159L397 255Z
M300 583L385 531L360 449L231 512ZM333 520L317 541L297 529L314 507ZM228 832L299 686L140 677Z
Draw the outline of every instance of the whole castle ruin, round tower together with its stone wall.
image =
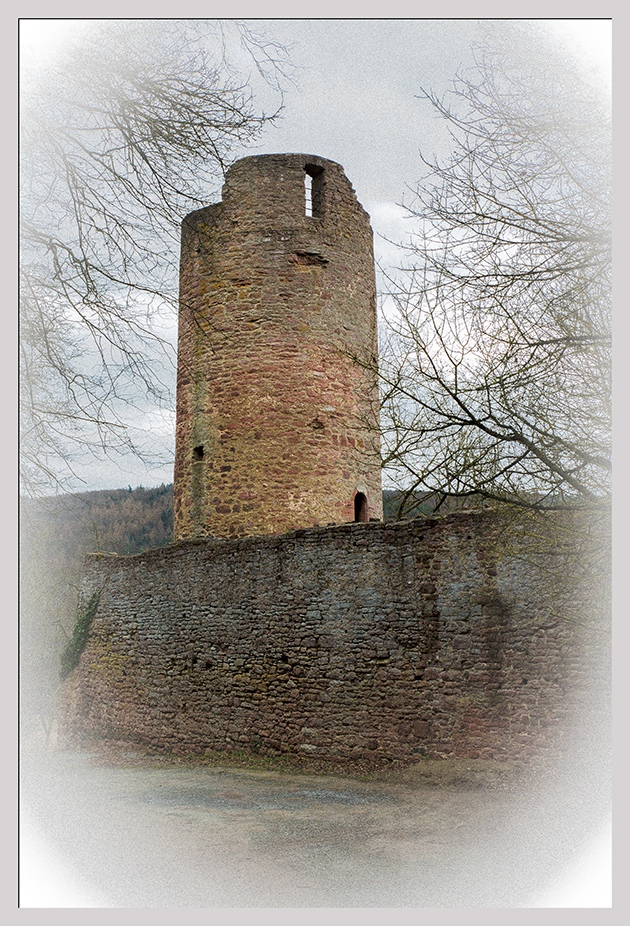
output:
M560 549L498 511L379 520L375 351L342 168L234 164L183 226L175 543L87 558L62 742L526 759L605 725L600 592Z

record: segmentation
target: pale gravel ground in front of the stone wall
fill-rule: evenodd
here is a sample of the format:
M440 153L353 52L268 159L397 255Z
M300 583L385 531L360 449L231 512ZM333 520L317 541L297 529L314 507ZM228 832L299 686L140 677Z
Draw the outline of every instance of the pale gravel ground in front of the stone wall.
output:
M23 750L21 906L609 905L584 855L595 837L606 847L596 765L506 778L421 763L359 778L268 764ZM593 890L555 902L580 859Z

